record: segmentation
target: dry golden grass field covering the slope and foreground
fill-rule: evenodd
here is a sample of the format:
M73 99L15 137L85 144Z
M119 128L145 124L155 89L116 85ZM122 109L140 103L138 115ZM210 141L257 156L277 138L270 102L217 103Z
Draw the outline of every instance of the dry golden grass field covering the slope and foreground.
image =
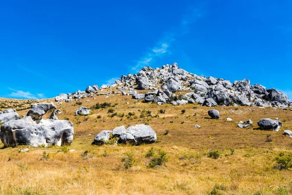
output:
M95 96L62 102L57 107L59 119L74 124L74 141L67 147L33 148L18 153L18 148L0 149L0 194L12 195L288 195L292 193L292 172L274 169L274 158L280 152L291 152L292 139L282 135L292 129L292 111L258 107L217 107L219 120L210 119L208 110L195 104L158 106L135 101L130 96ZM16 100L0 98L1 110L18 108L26 115L31 103L46 100ZM96 103L113 105L91 110L90 116L74 116L81 106L91 108ZM126 102L129 102L128 104ZM58 102L55 102L57 105ZM20 107L18 105L21 105ZM22 110L23 109L23 110ZM182 114L182 110L186 112ZM165 110L161 114L160 110ZM145 114L150 111L148 114ZM134 116L128 116L128 113ZM141 115L144 113L144 116ZM149 114L150 113L150 114ZM122 117L124 114L124 117ZM226 118L234 119L227 122ZM261 118L279 117L283 122L279 132L261 131L256 122ZM240 129L238 121L252 119L251 128ZM151 145L91 145L102 130L116 126L149 124L158 140ZM201 128L195 128L199 124ZM267 141L271 135L273 141ZM3 144L1 144L3 146ZM148 168L147 151L154 147L167 153L168 162ZM75 152L68 150L74 149ZM208 157L219 150L219 158ZM45 152L45 153L44 153ZM125 169L122 157L132 152L133 167Z

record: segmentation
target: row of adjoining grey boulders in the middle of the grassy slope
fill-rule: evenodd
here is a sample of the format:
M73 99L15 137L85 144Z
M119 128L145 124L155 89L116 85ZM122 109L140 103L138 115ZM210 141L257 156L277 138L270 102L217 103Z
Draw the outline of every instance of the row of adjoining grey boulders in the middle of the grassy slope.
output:
M132 145L151 144L156 142L156 133L149 125L135 125L114 128L112 131L102 131L98 133L93 141L93 144L102 145L108 143L113 137L119 137L116 144L129 143Z

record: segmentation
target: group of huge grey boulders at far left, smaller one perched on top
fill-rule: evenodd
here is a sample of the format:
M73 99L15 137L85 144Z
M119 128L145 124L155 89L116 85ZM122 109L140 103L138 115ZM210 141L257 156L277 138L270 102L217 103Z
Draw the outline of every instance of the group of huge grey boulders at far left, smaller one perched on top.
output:
M50 111L53 111L50 118L42 119ZM73 124L68 120L58 120L56 114L60 114L60 110L56 109L53 103L33 104L27 116L21 119L13 118L1 125L1 141L6 147L71 144L74 134Z

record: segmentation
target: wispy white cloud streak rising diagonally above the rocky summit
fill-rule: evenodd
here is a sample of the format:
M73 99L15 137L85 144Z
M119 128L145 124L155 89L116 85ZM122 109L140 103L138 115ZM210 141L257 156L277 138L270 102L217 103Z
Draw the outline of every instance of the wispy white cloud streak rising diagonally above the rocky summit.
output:
M146 54L136 61L131 70L135 73L144 66L149 66L156 59L163 57L164 55L170 54L170 46L173 41L177 38L190 32L190 25L195 23L199 18L203 17L205 13L201 11L202 5L198 7L189 7L186 14L182 16L181 22L173 26L174 31L164 33L164 37L157 41L156 45L150 49Z

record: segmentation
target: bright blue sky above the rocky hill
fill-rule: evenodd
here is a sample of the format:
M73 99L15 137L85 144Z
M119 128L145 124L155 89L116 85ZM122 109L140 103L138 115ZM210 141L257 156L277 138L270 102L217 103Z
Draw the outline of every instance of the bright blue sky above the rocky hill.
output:
M52 98L177 62L292 98L291 8L291 0L3 1L0 97Z

